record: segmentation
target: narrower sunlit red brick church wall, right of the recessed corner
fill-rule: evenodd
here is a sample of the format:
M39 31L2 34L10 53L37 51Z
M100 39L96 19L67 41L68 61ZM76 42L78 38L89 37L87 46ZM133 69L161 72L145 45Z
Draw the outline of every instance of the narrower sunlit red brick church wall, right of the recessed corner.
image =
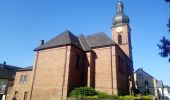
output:
M111 49L103 47L95 52L95 89L112 94Z

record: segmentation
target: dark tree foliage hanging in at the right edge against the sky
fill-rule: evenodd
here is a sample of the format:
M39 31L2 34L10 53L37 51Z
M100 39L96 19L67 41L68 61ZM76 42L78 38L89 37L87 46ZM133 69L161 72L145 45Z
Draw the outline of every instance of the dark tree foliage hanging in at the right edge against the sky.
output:
M170 0L165 0L170 5ZM170 33L170 18L167 24L168 31ZM159 49L161 52L159 52L161 57L165 57L169 59L170 62L170 40L166 38L165 36L160 40L160 44L158 44Z

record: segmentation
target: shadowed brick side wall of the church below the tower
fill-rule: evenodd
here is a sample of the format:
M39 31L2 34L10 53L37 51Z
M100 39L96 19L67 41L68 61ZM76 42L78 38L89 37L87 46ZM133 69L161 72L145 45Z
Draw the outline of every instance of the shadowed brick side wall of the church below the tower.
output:
M118 57L119 56L119 57ZM125 53L120 50L119 47L116 47L116 72L117 72L117 88L118 95L127 95L129 94L129 76L132 74L133 63L125 55ZM119 65L119 60L122 60L122 66ZM120 71L122 67L123 72Z

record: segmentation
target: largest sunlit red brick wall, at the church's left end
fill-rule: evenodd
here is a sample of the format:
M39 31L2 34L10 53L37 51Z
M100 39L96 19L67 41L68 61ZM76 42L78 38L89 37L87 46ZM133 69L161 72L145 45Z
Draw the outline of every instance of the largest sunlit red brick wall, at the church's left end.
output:
M60 100L67 97L70 46L39 51L32 100Z

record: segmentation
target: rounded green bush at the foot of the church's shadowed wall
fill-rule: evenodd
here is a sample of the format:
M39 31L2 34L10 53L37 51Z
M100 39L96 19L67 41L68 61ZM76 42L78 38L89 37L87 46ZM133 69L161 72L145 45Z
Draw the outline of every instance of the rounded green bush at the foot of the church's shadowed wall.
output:
M78 87L71 91L70 97L95 96L96 90L89 87Z

